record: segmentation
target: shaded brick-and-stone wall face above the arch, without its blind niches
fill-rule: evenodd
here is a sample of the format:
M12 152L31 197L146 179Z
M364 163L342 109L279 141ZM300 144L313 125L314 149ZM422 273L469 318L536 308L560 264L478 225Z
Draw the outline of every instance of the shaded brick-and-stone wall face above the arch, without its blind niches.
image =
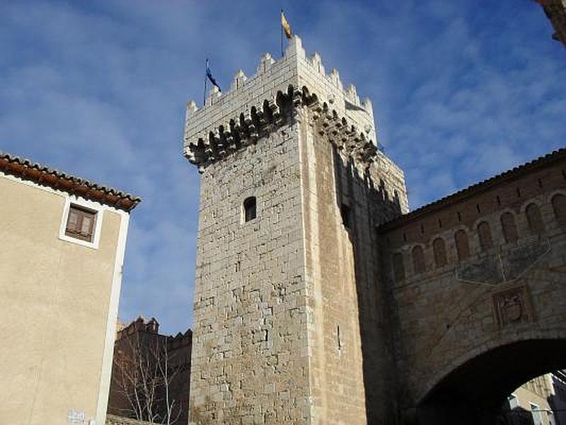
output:
M415 406L446 374L490 348L521 339L566 338L566 228L553 208L559 194L566 195L564 149L381 227L405 407ZM533 203L541 212L540 233L526 217ZM514 242L504 238L504 212L516 222ZM480 222L490 227L487 250L480 246ZM467 259L458 259L458 230L468 236ZM446 245L444 266L434 261L433 241L439 237ZM415 246L424 250L424 272L413 267ZM404 277L393 276L395 254L403 257ZM502 302L506 297L520 300L521 307L509 307Z

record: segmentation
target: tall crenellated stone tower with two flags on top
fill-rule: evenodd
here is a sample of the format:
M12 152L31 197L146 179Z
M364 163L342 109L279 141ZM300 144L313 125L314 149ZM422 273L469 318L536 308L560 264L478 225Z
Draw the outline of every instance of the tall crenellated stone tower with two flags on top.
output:
M407 200L377 146L371 101L296 36L187 104L201 173L190 423L365 424L395 409L375 229Z

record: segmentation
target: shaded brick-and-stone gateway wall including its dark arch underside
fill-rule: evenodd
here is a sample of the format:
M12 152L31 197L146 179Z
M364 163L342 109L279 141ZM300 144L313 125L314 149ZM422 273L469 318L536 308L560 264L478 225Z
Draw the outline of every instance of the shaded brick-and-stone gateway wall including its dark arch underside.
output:
M380 227L405 408L497 411L563 367L565 225L560 149Z

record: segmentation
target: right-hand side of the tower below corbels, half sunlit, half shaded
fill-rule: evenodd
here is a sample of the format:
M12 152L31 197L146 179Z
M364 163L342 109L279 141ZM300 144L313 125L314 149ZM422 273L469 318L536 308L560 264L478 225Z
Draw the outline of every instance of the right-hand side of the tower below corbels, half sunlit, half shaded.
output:
M299 120L313 418L379 423L395 416L395 376L374 229L406 211L403 174L345 155L310 109Z

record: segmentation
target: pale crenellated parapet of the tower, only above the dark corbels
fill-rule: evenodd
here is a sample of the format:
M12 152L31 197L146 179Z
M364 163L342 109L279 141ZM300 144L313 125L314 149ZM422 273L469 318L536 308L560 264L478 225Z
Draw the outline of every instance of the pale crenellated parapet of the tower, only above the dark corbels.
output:
M374 111L369 98L360 101L353 85L344 89L336 69L327 75L320 55L314 53L307 57L301 39L294 36L281 60L275 61L269 53L265 53L253 77L248 79L240 70L234 76L231 91L221 94L213 88L204 108L197 108L194 101L187 103L187 158L197 162L191 143L202 140L208 146L211 138L233 128L231 120L238 125L240 120L251 119L253 111L262 111L266 101L276 105L278 94L286 94L289 86L296 89L306 87L311 93L316 93L320 103L327 103L340 118L347 119L368 140L376 143Z

